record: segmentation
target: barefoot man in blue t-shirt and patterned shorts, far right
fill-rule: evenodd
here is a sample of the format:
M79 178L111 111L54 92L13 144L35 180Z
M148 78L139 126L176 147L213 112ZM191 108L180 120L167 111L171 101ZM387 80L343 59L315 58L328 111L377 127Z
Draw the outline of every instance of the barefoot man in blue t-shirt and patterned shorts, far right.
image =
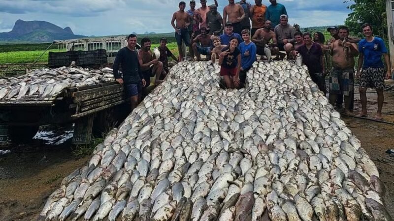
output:
M382 119L382 107L383 107L383 88L385 88L385 77L390 79L391 68L390 58L387 54L386 46L381 38L374 37L372 35L372 26L364 24L361 26L362 33L365 38L359 43L359 67L357 69L357 78L360 78L360 100L362 111L359 116L367 116L366 111L366 88L375 88L378 94L378 111L375 119ZM385 58L387 67L386 75L382 62L382 55ZM362 73L360 69L362 67Z

